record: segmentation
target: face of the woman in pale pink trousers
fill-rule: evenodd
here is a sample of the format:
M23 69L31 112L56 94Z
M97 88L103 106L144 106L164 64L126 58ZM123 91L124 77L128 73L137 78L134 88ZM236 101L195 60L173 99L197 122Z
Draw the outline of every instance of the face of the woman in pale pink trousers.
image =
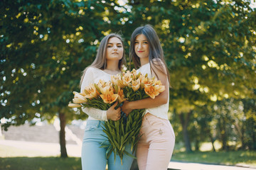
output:
M140 59L149 58L149 42L144 34L137 35L135 38L134 50Z

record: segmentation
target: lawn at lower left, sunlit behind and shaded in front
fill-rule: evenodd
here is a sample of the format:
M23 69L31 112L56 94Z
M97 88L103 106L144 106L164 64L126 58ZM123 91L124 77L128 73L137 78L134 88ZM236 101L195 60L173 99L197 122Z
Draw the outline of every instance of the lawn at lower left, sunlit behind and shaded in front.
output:
M38 157L41 156L41 157ZM80 157L60 158L46 156L34 150L0 145L0 169L3 170L80 170Z

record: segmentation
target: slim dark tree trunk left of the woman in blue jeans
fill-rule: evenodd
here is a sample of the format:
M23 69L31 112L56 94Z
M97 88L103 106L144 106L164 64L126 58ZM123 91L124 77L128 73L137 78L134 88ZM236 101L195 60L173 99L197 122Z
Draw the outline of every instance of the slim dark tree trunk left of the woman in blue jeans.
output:
M60 118L60 157L68 157L67 149L65 147L65 124L66 124L66 118L65 114L59 112L59 118Z

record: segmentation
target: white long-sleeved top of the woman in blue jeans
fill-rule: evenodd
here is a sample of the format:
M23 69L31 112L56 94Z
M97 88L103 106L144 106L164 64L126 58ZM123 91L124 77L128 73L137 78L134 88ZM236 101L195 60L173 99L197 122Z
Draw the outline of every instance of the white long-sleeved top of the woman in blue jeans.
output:
M110 81L112 74L108 74L101 69L97 69L95 67L88 67L85 72L85 77L82 79L82 85L80 91L82 92L86 86L90 86L90 84L97 84L100 79L104 81ZM84 108L82 107L82 111L89 115L88 120L105 120L107 121L107 111L102 111L97 108Z

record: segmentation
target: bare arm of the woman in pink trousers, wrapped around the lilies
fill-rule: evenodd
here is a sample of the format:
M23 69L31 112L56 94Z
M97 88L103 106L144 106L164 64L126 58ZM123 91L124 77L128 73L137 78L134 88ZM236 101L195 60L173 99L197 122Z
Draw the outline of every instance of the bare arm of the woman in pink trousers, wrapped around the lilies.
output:
M165 90L159 94L159 96L156 96L156 98L144 98L139 101L126 101L124 102L122 108L122 111L126 114L129 114L134 109L142 109L142 108L155 108L157 106L161 106L168 102L169 98L169 82L168 78L166 76L166 71L164 67L164 63L160 63L156 66L152 64L152 69L156 72L156 74L159 77L159 80L161 83L166 87ZM163 72L161 72L163 71ZM152 72L154 74L154 72ZM156 76L154 74L154 76Z

